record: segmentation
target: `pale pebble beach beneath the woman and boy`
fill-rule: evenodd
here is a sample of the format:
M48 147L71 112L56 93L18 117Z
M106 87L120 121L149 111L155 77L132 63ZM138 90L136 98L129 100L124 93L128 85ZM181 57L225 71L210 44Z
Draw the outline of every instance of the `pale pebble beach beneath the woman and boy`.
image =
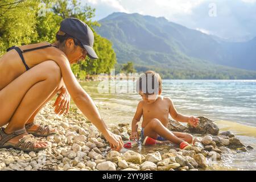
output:
M35 122L50 125L59 131L55 136L42 138L47 140L49 148L28 153L2 148L0 170L214 170L209 162L209 154L216 155L217 162L222 161L224 154L230 156L242 154L241 151L237 153L228 147L222 147L222 151L214 142L212 143L216 146L214 151L200 149L207 147L200 142L196 142L197 147L193 146L192 150L180 150L174 144L163 146L138 144L133 148L123 148L120 152L111 151L96 127L86 121L76 108L71 108L67 115L59 116L54 114L51 105L52 102L49 102L35 118ZM112 125L110 129L115 134L121 134L124 142L127 142L129 123ZM194 136L199 140L201 138L198 137L199 135Z

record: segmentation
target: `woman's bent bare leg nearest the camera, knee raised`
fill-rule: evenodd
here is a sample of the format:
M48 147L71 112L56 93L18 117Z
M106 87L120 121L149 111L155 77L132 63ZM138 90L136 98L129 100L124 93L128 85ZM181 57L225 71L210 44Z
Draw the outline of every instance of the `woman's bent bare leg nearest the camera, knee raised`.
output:
M31 115L53 93L61 78L54 61L44 61L23 73L0 91L0 126L8 126L6 133L22 129ZM27 135L24 134L24 135ZM22 135L10 139L18 142ZM42 144L36 144L40 147Z

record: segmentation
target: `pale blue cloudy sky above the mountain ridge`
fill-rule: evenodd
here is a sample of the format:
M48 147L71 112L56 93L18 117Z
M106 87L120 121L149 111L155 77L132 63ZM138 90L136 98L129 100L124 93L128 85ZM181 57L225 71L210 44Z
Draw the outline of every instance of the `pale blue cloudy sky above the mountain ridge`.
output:
M256 0L81 0L94 20L114 12L163 16L170 22L232 41L256 36Z

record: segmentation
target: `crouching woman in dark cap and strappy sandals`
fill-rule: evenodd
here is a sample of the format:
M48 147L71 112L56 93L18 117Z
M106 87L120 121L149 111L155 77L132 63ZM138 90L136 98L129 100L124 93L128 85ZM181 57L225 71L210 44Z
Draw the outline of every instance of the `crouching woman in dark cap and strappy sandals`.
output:
M47 143L38 137L56 134L48 126L35 125L40 109L57 92L55 112L69 109L69 94L82 113L101 131L114 150L121 150L122 138L111 133L100 117L90 96L82 89L71 71L71 64L97 59L94 36L84 22L67 18L60 24L53 44L38 43L11 47L0 58L0 148L39 151Z

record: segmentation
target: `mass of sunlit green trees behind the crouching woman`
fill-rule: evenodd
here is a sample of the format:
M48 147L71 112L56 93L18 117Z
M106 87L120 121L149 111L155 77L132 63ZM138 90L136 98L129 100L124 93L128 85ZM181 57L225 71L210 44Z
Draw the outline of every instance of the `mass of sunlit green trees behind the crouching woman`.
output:
M46 16L38 16L40 2L46 4ZM95 9L81 5L76 0L2 0L0 1L0 56L11 46L55 41L55 35L64 18L78 18L92 26L100 26L93 21ZM92 28L93 30L93 28ZM86 57L78 65L72 65L77 77L86 73L108 73L117 62L112 43L102 38L94 30L94 50L99 59Z

